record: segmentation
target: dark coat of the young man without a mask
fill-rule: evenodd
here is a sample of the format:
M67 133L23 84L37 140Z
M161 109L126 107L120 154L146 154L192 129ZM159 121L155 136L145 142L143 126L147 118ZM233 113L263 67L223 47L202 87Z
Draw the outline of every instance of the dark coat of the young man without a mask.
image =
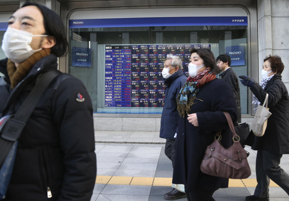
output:
M228 83L233 90L234 98L236 100L238 109L237 122L241 123L240 85L238 77L231 67L225 70L222 74L220 74L220 76L222 77L222 80Z

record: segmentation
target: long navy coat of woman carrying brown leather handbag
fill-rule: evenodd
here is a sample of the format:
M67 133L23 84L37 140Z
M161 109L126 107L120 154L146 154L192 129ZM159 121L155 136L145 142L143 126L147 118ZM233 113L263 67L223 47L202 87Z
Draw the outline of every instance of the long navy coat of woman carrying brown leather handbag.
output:
M176 162L173 184L184 184L185 192L194 189L217 190L228 187L228 179L214 177L200 171L200 165L208 145L213 143L216 131L222 131L221 143L225 148L232 145L232 131L223 113L237 120L237 105L231 87L223 80L214 79L202 87L191 105L190 114L196 113L198 127L179 116L176 137Z

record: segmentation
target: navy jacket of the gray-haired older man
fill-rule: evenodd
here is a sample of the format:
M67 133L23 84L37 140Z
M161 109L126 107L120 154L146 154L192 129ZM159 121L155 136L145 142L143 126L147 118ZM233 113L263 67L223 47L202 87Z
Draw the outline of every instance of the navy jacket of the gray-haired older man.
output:
M187 81L182 70L164 79L166 84L165 101L162 118L160 119L160 138L175 140L174 135L178 127L178 116L176 97Z

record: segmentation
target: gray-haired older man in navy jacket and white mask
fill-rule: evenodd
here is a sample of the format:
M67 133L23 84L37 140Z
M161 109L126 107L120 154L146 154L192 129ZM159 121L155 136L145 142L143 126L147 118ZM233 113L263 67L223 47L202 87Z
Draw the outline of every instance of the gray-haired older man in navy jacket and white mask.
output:
M175 133L178 126L178 115L176 97L187 80L182 71L182 60L178 56L167 55L162 75L166 84L165 101L160 120L160 138L166 139L165 154L175 163ZM185 193L173 189L164 195L165 199L175 200L186 197Z

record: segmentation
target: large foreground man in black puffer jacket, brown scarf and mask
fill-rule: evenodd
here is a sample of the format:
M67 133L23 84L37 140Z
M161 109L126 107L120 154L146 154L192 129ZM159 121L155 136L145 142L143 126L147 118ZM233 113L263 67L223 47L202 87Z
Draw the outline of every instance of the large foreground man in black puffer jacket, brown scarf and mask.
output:
M8 58L0 61L0 118L19 110L40 74L54 71L57 76L20 134L7 201L78 201L92 196L92 103L80 80L57 71L57 57L66 54L67 46L61 18L43 5L27 2L9 19L2 41Z

